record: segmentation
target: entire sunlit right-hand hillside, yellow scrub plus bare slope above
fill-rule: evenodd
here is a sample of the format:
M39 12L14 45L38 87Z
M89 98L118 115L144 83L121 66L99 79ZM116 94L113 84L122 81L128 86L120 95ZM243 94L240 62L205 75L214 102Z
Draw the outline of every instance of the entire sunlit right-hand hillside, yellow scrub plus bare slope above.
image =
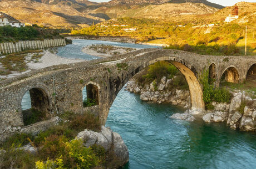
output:
M180 9L184 6L184 9L174 10L173 13L163 10L165 6L173 7L174 5L173 3L158 6L150 4L146 7L137 5L135 6L137 10L134 10L130 16L126 16L131 11L128 9L128 12L124 12L117 19L111 19L89 28L73 30L72 34L130 37L137 39L137 42L171 45L174 49L200 54L230 55L244 53L244 30L247 25L248 53L256 53L255 35L253 38L256 27L256 3L238 3L239 18L230 23L224 22L225 17L230 14L230 7L220 11L213 8L218 12L212 14L209 14L209 11L206 11L206 14L189 13L189 10L196 11L199 7L211 9L204 4L194 3L176 4ZM185 8L185 6L189 7ZM168 17L170 19L166 19Z

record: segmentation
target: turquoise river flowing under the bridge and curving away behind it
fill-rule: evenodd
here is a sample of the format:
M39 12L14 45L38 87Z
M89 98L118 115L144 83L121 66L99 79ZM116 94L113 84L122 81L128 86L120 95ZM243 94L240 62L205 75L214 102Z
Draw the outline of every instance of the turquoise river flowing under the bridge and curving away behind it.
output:
M99 40L73 40L58 48L67 58L96 59L81 53L90 44L155 48ZM85 91L83 91L85 95ZM28 109L29 95L23 98ZM225 124L186 122L169 116L184 110L170 104L152 104L122 89L111 106L106 126L118 132L129 148L126 169L143 168L256 168L256 134L229 129Z

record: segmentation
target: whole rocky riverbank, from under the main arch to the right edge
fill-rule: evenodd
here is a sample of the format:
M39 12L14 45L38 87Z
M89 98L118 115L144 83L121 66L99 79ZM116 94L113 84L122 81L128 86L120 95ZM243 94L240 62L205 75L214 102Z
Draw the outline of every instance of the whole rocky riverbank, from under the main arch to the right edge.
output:
M242 131L256 131L256 99L255 95L244 90L229 90L232 99L228 103L217 103L215 101L208 105L206 111L190 110L190 93L188 89L171 88L176 77L168 79L165 76L159 82L152 81L150 84L141 86L138 80L143 72L137 74L125 86L125 90L139 94L143 101L171 105L179 105L187 109L184 113L170 116L171 119L194 121L203 119L206 123L224 122L231 129Z

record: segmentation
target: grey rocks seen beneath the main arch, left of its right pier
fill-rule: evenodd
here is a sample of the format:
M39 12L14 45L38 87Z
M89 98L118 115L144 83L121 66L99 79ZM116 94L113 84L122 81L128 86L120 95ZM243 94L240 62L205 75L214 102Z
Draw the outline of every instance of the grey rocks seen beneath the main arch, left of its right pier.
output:
M127 83L125 90L140 94L140 99L144 101L152 101L159 104L170 103L173 105L181 105L185 109L188 109L191 105L189 91L169 89L172 80L173 79L167 79L163 76L160 83L152 81L152 83L147 84L142 88L142 86L139 86L133 78Z

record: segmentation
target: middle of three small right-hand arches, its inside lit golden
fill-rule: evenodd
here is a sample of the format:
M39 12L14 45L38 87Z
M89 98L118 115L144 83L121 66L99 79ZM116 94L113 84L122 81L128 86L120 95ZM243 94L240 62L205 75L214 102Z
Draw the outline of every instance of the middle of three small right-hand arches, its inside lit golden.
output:
M226 68L222 73L221 77L225 79L225 81L230 83L239 83L240 75L236 66L232 65Z

